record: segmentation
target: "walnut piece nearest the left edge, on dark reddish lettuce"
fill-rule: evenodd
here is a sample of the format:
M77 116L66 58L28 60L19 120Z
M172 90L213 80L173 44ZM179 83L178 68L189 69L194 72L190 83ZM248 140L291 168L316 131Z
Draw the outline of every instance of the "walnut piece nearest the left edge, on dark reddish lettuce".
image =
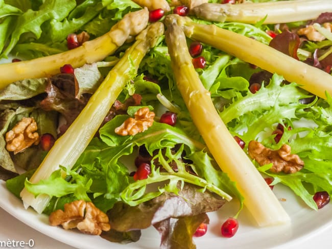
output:
M31 145L39 143L37 123L32 117L23 117L15 127L6 133L6 149L17 154Z

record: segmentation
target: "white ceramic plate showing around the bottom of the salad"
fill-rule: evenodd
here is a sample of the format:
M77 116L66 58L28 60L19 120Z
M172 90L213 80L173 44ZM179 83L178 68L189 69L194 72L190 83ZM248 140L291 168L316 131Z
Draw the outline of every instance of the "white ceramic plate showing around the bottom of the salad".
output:
M206 235L195 238L197 248L286 248L294 246L304 237L308 239L322 230L332 227L332 205L327 205L318 212L306 208L302 201L283 186L275 186L275 194L282 206L291 217L290 225L270 228L257 228L250 215L244 210L240 217L238 233L232 238L220 236L220 226L223 220L232 215L235 203L229 203L218 212L209 213L210 225ZM259 193L257 193L259 194ZM126 245L111 243L99 236L81 234L76 230L66 231L60 227L52 227L48 223L48 216L38 215L32 209L24 209L21 201L11 194L4 181L0 181L0 207L8 213L26 223L31 228L59 240L68 245L85 248L158 248L160 236L154 228L143 231L138 242ZM262 205L264 201L262 200Z

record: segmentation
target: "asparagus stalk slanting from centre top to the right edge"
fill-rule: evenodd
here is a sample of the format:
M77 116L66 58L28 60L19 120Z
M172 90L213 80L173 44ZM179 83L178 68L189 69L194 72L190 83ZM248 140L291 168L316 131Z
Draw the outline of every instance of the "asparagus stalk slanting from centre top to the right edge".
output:
M177 18L188 38L199 40L269 72L282 75L287 81L296 82L319 97L326 98L325 91L332 94L332 76L321 69L213 24L198 24L188 17L174 15L174 18Z

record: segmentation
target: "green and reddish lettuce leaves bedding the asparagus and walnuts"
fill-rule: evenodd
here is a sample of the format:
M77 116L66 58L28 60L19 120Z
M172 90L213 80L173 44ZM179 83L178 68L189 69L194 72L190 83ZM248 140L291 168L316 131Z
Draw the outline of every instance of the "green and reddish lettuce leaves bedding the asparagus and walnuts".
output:
M130 0L0 0L0 56L29 60L65 52L68 34L85 31L90 39L98 38L127 13L140 9ZM331 77L330 32L324 33L325 40L301 37L301 43L296 33L315 21L321 25L331 23L331 13L308 22L285 24L266 24L264 19L254 24L212 22L195 16L191 20L204 25L214 23L265 45L277 44L273 47L292 52L288 56L295 52L298 60L321 69L322 73L328 72L326 79ZM326 29L319 27L316 31ZM193 41L187 37L188 47ZM294 44L295 41L299 43ZM262 166L250 160L263 177L273 178L271 186L287 186L309 208L318 210L315 193L332 194L332 93L320 89L324 96L315 96L299 82L289 82L286 77L236 58L236 53L227 54L209 42L201 43L200 56L206 60L206 66L196 68L196 72L230 134L245 142L245 153L252 140L271 150L290 145L291 153L304 162L298 172L273 172L272 164ZM219 210L233 198L238 205L232 210L233 216L238 217L245 200L239 183L219 168L194 125L177 87L165 37L157 39L140 63L133 55L124 56L133 44L134 41L127 40L114 55L76 68L75 74L24 79L1 89L0 177L19 198L22 189L32 196L48 195L47 206L40 210L48 215L75 200L93 202L110 219L112 229L101 235L107 240L137 241L140 230L154 226L161 234L162 246L195 248L192 236L202 222L208 223L207 212ZM248 47L241 49L250 52ZM33 182L31 176L48 152L40 145L17 154L9 152L6 133L22 117L33 117L38 134L51 134L61 141L89 100L97 101L92 94L124 58L127 60L122 68L127 73L124 87L118 89L116 100L110 103L113 105L104 107L104 120L96 127L93 132L96 134L85 150L77 155L73 165L66 162L52 165L55 170L49 178ZM116 127L144 107L156 115L149 129L130 136L115 133ZM176 113L174 126L161 122L165 111ZM82 121L76 128L89 129L89 125ZM139 160L148 164L150 171L146 178L137 180ZM18 168L26 172L18 176ZM167 205L174 209L166 211ZM167 231L172 232L166 234ZM179 241L181 245L177 244Z

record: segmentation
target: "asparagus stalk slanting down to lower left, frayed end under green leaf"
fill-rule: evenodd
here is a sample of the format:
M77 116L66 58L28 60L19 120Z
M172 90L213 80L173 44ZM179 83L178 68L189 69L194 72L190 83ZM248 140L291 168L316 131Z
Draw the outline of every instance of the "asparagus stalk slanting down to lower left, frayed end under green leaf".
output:
M136 42L127 49L124 56L108 73L79 116L55 142L51 151L31 177L30 182L37 183L49 178L52 172L59 168L59 165L67 168L73 167L96 134L115 99L130 80L133 70L137 72L140 61L162 34L163 24L156 22L137 36ZM41 194L34 197L27 189L23 189L20 196L26 208L31 206L38 213L41 213L50 201L50 196Z

